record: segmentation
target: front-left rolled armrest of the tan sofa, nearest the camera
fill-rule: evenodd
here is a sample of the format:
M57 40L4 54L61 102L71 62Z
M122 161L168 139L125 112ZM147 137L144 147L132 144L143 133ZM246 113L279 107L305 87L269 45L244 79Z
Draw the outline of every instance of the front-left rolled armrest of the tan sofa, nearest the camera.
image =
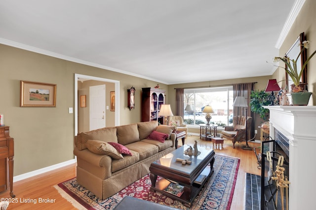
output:
M112 158L108 155L95 154L87 149L78 150L74 149L74 154L79 158L94 166L105 167L111 169Z

